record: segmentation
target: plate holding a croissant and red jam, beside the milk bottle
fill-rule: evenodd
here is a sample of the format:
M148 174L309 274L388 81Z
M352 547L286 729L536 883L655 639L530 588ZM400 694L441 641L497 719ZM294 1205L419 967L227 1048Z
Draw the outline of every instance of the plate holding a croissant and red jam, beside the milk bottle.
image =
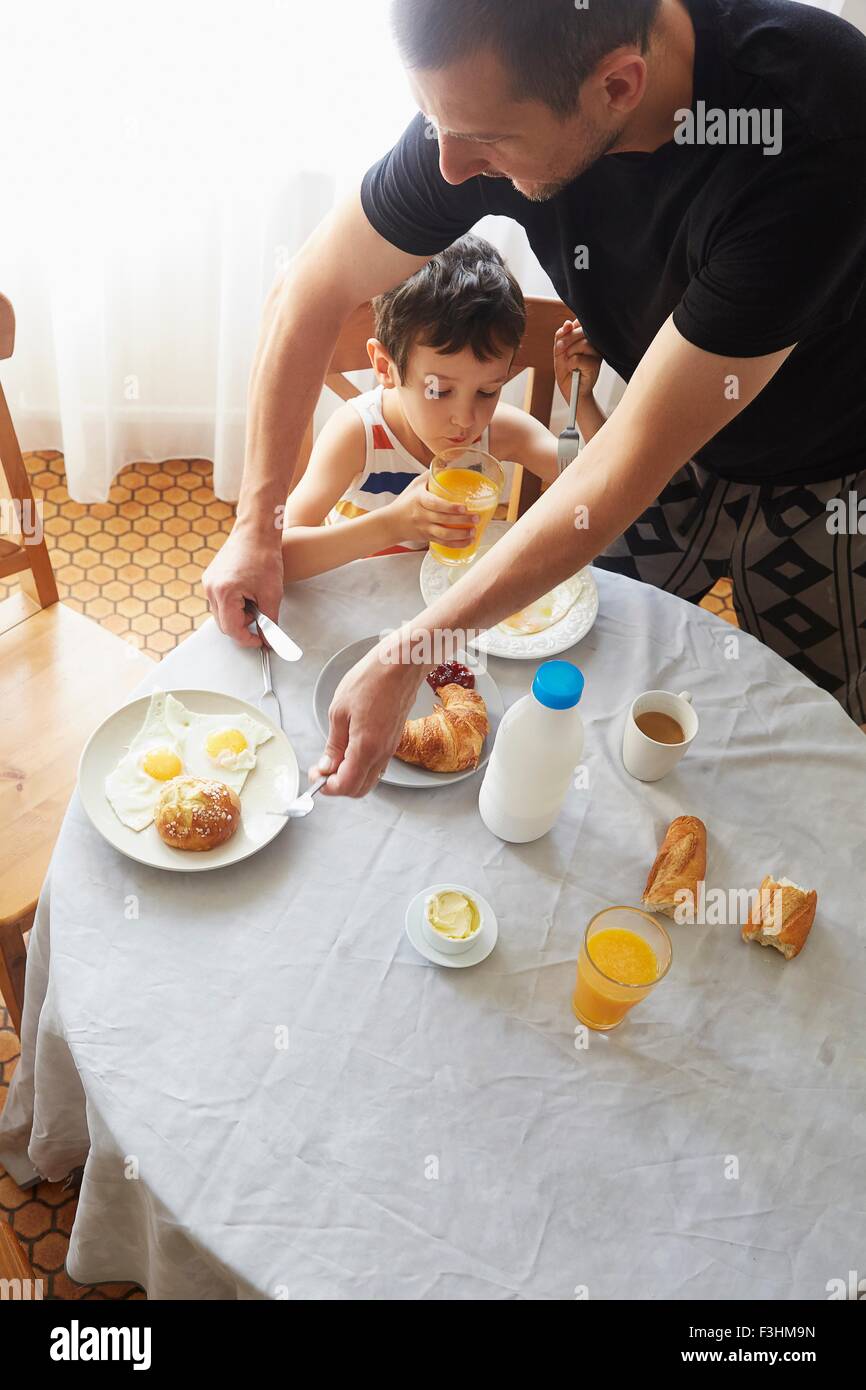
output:
M322 667L313 705L324 738L328 737L328 709L336 687L378 641L378 637L363 637L343 646ZM473 688L468 688L470 680ZM496 682L478 667L477 657L457 652L449 670L436 667L434 682L421 682L400 746L388 763L382 781L392 787L446 787L474 777L491 756L503 713Z

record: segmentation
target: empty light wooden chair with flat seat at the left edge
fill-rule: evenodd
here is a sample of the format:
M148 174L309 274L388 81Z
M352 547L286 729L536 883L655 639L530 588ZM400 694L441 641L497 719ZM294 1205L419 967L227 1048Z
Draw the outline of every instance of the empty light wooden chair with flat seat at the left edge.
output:
M15 316L0 295L0 360ZM3 539L1 534L14 534ZM78 759L103 719L152 670L129 642L58 600L21 449L0 386L0 994L15 1030L24 1005L24 934L75 787Z

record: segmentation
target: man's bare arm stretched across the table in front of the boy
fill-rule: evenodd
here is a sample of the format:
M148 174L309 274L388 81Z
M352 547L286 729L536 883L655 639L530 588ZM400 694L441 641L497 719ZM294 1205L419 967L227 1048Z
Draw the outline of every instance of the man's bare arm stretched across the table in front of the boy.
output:
M375 785L424 677L423 666L400 660L420 649L418 637L492 627L589 564L763 391L794 346L720 357L687 342L669 318L578 463L460 584L343 678L331 705L322 770L335 773L325 794L361 796Z

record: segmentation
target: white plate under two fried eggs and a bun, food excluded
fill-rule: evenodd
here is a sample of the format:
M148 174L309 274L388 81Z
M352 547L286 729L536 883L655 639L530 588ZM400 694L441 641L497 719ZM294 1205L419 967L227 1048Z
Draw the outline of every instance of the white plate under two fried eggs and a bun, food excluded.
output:
M106 777L145 723L150 695L142 695L140 699L122 705L90 734L78 764L78 795L100 835L129 859L179 873L222 869L225 865L254 855L288 824L282 816L270 816L268 812L284 810L297 795L300 783L297 759L286 735L261 713L257 705L247 705L246 701L222 695L220 691L171 691L171 694L196 714L243 713L260 724L267 724L274 733L274 738L268 738L256 752L256 766L240 792L240 824L232 838L209 851L172 849L160 840L153 823L146 830L131 830L111 809L106 796Z

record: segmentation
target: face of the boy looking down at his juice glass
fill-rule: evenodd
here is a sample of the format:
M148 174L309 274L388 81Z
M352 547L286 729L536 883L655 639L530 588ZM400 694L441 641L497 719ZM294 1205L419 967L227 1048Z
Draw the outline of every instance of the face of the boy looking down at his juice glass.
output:
M406 423L431 453L474 443L484 434L514 360L512 349L480 361L471 348L445 354L417 346L400 379L393 359L381 343L375 346L371 357L379 381L396 389Z

